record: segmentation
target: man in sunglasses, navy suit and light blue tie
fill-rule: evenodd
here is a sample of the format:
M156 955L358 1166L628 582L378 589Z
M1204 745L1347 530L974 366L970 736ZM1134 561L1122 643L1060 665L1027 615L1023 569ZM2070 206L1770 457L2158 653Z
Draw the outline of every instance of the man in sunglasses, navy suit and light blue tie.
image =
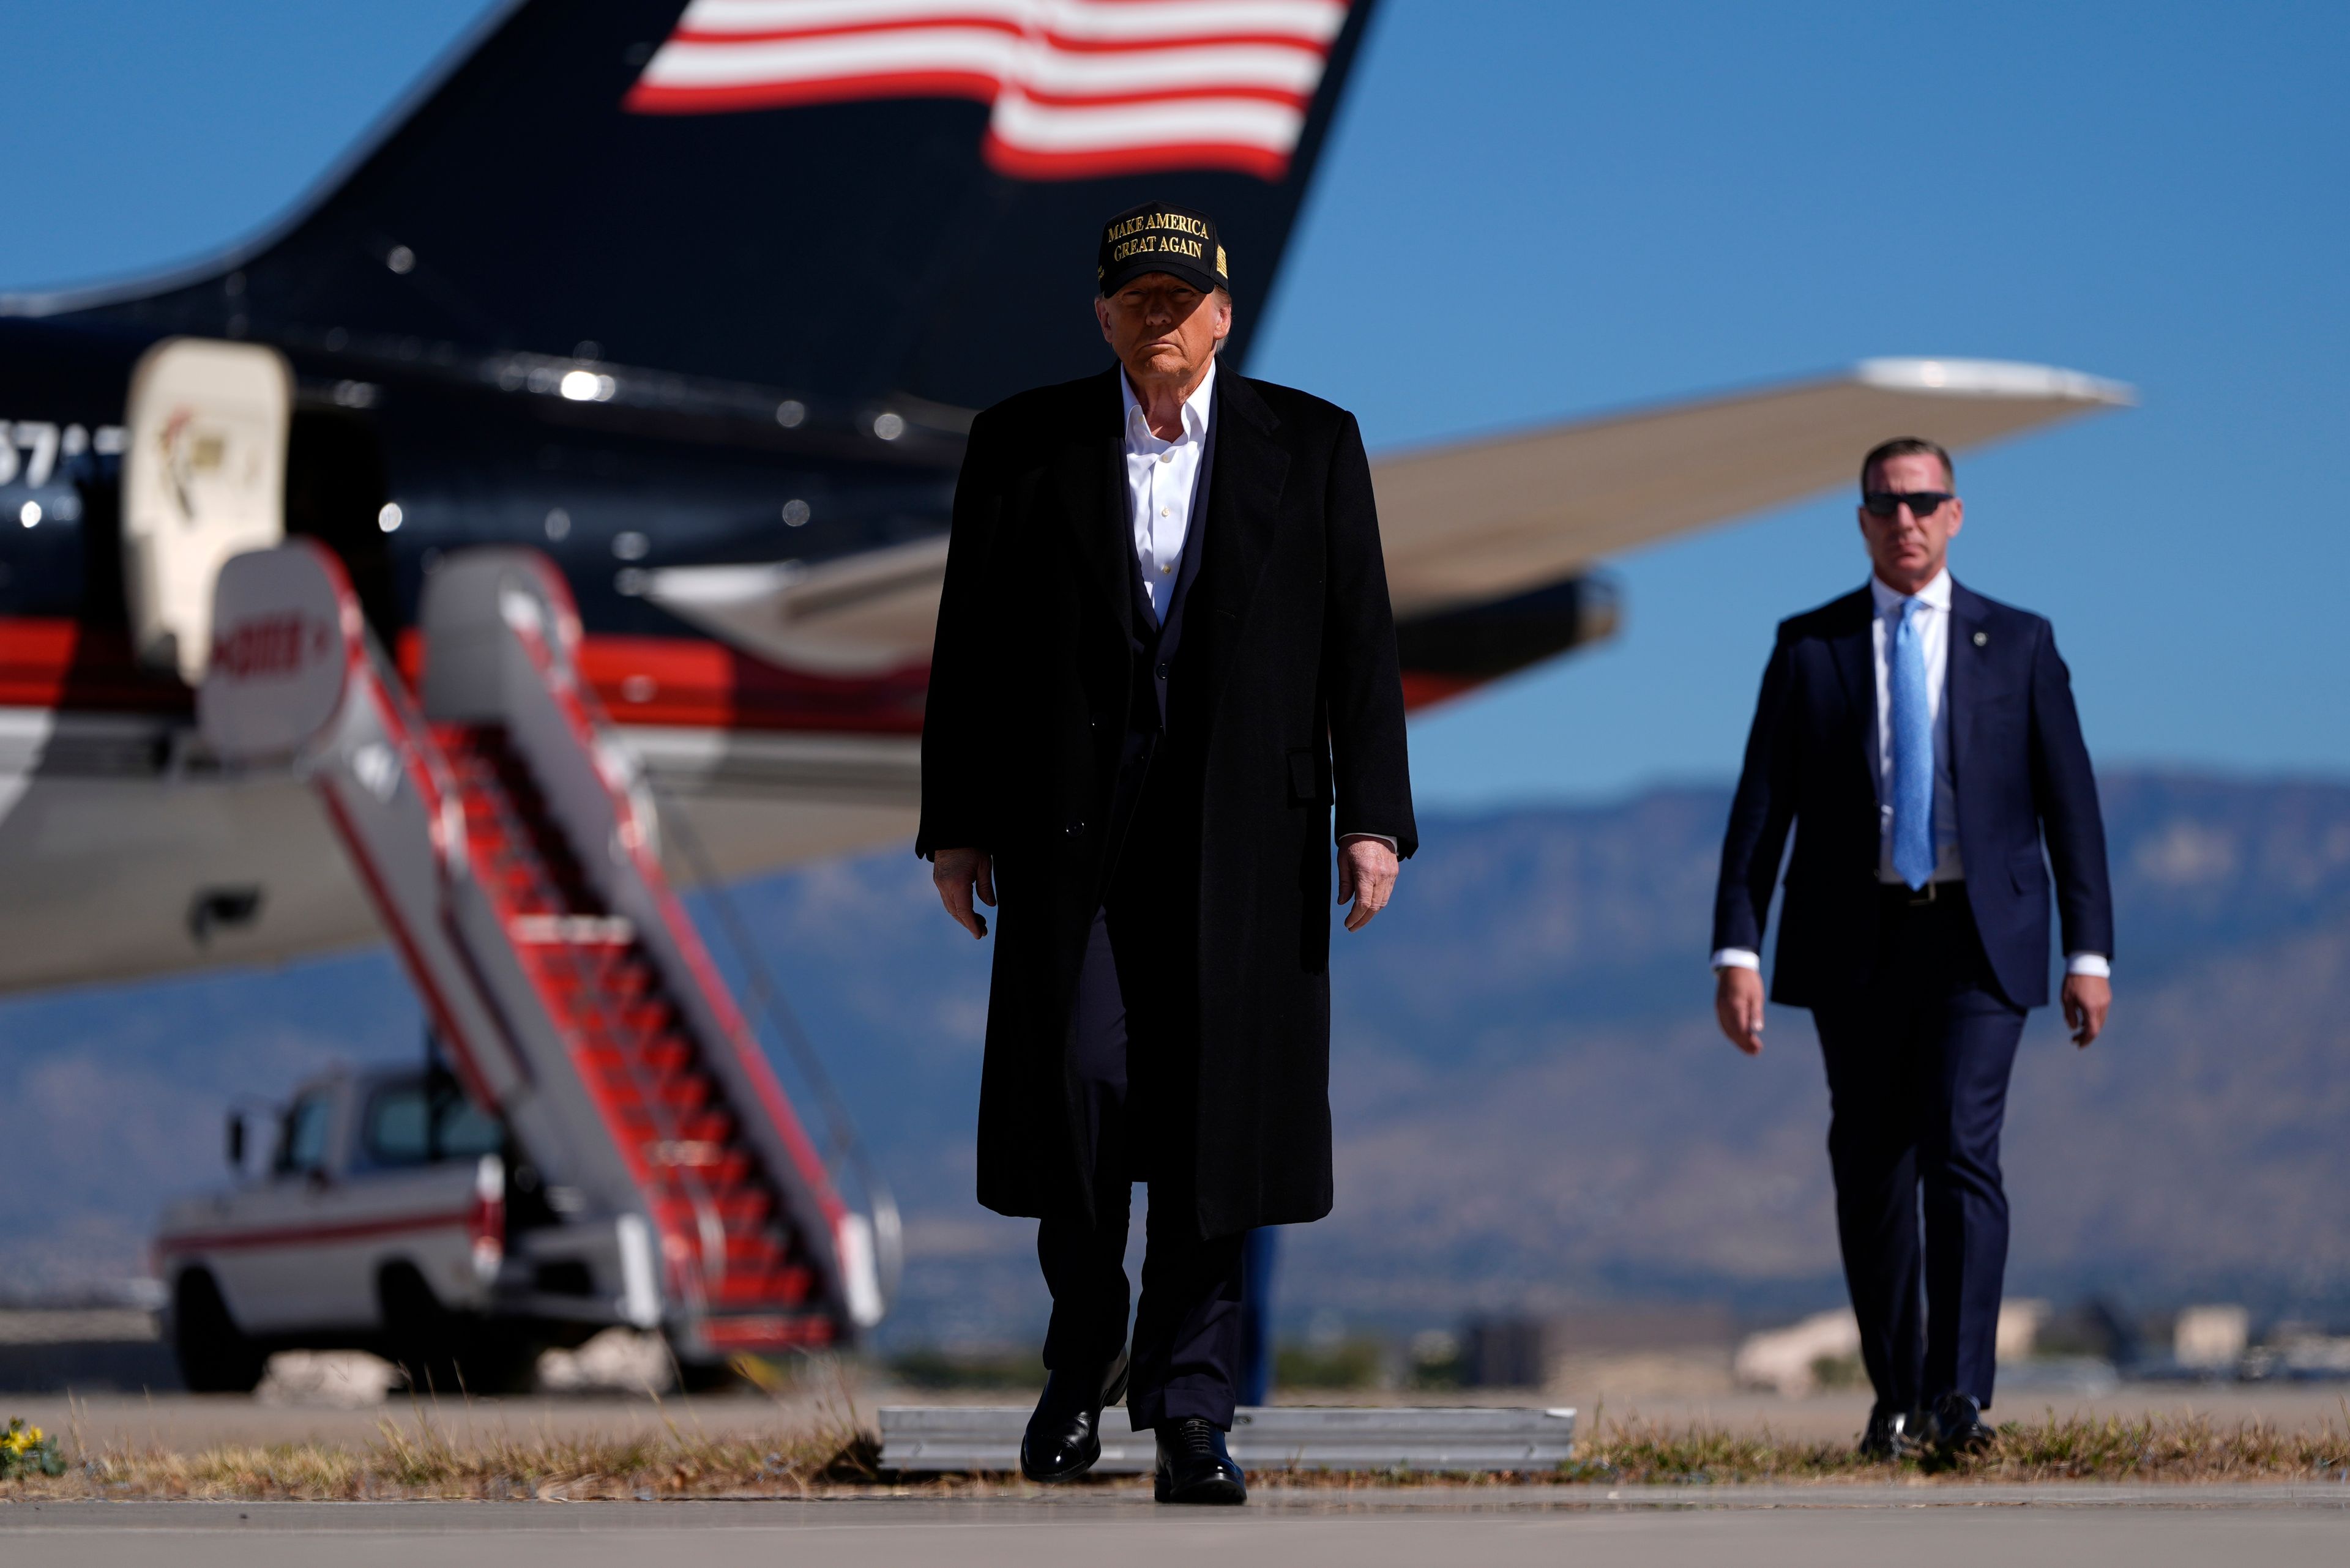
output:
M2044 618L1950 581L1967 517L1953 491L1934 442L1861 461L1875 571L1779 623L1713 905L1716 1016L1753 1056L1762 924L1795 830L1770 999L1812 1009L1828 1067L1871 1458L1990 1443L2000 1121L2023 1013L2047 1001L2049 867L2077 1046L2113 1001L2106 827L2073 677Z

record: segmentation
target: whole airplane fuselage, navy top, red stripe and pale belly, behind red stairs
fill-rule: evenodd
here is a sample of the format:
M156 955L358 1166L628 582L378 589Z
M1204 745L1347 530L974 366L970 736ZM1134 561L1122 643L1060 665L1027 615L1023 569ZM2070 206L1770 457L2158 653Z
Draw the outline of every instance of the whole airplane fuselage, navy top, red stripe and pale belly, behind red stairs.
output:
M374 936L301 785L209 771L190 745L190 689L132 654L122 425L155 341L0 320L14 458L0 458L0 987ZM714 870L909 832L926 661L785 668L670 616L646 583L663 567L813 567L940 536L961 461L952 411L837 407L592 357L273 348L296 388L287 531L345 562L411 675L435 562L526 543L569 578L583 668L691 811Z

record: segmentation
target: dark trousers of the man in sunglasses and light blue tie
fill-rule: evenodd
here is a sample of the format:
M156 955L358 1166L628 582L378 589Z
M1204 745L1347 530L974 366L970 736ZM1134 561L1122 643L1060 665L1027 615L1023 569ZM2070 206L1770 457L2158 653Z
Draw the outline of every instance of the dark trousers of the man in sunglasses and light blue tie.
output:
M1965 889L1925 905L1887 893L1868 987L1812 1018L1868 1382L1894 1410L1950 1392L1988 1408L2007 1272L2000 1121L2023 1009L1990 978Z

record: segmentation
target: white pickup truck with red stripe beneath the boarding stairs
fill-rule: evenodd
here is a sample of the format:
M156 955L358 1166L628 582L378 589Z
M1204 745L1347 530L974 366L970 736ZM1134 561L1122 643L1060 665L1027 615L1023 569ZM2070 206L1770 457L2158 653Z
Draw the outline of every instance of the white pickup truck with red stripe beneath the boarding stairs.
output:
M251 1389L273 1349L371 1349L418 1389L505 1392L540 1349L660 1321L644 1220L543 1185L449 1072L317 1079L254 1143L230 1114L237 1182L155 1234L195 1392Z

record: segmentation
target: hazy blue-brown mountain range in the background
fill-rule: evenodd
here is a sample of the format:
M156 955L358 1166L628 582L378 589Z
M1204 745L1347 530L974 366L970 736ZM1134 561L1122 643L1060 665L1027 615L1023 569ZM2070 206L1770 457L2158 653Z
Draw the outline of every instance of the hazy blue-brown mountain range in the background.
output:
M2350 1309L2350 783L2115 771L2110 1030L2035 1013L2007 1121L2009 1286L2138 1309ZM1810 1020L1713 1030L1723 788L1429 816L1396 903L1332 940L1337 1211L1285 1234L1281 1312L1835 1305ZM971 1201L992 945L905 851L726 893L907 1213L895 1342L1043 1314L1029 1222ZM0 1291L143 1267L221 1175L221 1114L331 1060L416 1053L388 954L0 1004ZM1140 1227L1137 1227L1140 1232Z

